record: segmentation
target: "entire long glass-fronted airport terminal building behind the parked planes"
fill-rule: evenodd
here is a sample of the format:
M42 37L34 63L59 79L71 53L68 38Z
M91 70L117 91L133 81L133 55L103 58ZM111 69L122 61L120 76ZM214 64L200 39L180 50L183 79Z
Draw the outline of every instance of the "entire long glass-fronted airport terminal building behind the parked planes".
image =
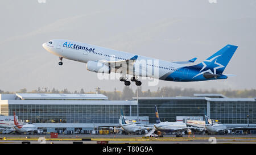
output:
M133 100L108 100L102 94L0 94L0 114L35 123L47 132L76 129L93 130L94 124L119 124L121 109L126 118L139 123L154 124L158 107L162 122L177 120L180 116L204 116L227 125L256 125L255 98L227 98L221 94L195 94L194 97L139 97Z

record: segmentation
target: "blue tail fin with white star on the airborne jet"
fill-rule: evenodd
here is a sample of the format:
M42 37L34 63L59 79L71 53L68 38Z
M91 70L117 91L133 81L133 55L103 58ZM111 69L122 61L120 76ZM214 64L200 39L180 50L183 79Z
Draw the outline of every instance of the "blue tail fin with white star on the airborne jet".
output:
M237 48L235 45L228 44L205 61L191 67L200 69L200 72L209 71L212 72L211 74L222 74Z

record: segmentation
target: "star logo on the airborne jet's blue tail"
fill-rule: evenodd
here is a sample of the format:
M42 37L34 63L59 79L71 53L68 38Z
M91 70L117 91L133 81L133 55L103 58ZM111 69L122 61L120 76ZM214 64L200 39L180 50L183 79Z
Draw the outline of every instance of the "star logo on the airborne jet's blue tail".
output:
M212 74L216 74L216 70L219 68L224 68L223 65L217 63L217 58L221 56L218 55L216 57L211 58L210 60L205 60L202 62L203 64L203 68L200 70L199 74L196 74L195 77L200 76L201 74L204 74L206 72L212 73ZM213 63L214 62L214 63ZM195 78L193 77L193 78Z

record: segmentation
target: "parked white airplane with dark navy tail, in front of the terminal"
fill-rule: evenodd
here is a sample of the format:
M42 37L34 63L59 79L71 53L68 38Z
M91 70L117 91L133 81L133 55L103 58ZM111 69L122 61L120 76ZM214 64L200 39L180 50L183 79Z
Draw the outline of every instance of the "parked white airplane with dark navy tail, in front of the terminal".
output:
M155 130L154 133L156 133L157 135L160 135L160 137L163 137L162 132L166 132L166 133L177 132L179 134L176 135L176 137L182 137L181 132L185 132L185 133L188 133L188 135L190 135L191 129L195 129L195 127L187 127L187 125L183 122L160 122L158 108L156 107L156 105L155 105L155 117L156 117L156 124L154 124L155 129L150 131L150 133L152 133Z

